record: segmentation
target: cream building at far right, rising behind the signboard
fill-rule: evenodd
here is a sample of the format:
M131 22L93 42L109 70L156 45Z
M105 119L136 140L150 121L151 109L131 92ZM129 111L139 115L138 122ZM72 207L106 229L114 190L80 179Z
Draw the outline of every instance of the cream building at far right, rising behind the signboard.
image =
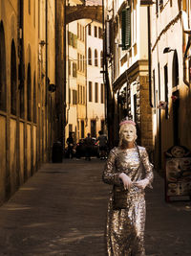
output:
M165 0L151 10L153 137L156 161L163 169L170 147L191 150L191 2Z

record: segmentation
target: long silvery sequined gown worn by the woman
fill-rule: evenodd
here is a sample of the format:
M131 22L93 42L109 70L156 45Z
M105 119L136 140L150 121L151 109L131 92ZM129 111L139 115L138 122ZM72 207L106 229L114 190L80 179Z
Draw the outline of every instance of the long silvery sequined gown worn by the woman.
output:
M138 155L142 159L142 165ZM121 150L120 147L110 151L103 171L103 181L111 185L120 185L120 173L128 175L133 182L143 178L153 180L153 166L149 162L145 148L139 147ZM114 191L108 204L107 216L107 253L109 256L144 256L145 198L144 190L133 185L126 199L128 208L114 209Z

